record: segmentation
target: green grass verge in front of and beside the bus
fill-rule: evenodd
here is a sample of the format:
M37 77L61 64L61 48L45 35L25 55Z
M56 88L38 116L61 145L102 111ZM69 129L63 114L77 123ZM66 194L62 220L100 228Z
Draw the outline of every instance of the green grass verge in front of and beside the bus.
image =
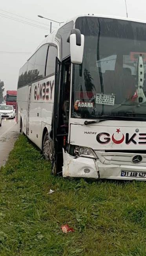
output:
M144 182L53 177L24 135L0 174L0 256L146 255Z

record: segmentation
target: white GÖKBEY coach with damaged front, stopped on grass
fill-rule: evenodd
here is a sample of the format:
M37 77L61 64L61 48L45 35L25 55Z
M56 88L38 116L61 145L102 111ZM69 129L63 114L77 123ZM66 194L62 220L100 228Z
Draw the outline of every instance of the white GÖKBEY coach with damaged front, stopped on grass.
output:
M146 21L80 15L20 69L17 121L63 177L146 180Z

